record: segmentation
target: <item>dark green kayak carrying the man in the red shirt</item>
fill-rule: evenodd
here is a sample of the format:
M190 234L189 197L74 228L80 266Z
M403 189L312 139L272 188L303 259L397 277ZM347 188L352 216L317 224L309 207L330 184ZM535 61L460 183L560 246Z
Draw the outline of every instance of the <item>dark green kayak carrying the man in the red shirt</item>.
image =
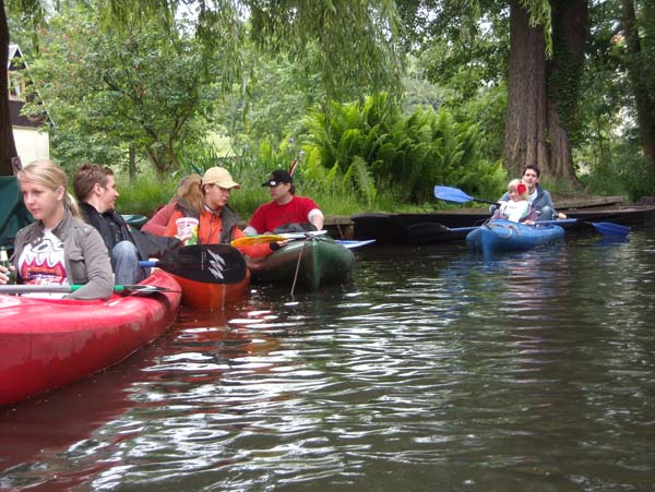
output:
M248 262L253 281L308 289L346 281L354 265L350 250L327 236L294 240L264 259Z

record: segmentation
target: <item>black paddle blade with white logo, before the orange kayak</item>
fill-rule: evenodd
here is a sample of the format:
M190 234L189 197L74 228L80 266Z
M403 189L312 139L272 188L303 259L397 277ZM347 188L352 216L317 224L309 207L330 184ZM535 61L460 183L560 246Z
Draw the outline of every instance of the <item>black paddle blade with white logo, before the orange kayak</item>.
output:
M246 260L229 244L193 244L168 252L157 267L189 280L238 284L246 278Z

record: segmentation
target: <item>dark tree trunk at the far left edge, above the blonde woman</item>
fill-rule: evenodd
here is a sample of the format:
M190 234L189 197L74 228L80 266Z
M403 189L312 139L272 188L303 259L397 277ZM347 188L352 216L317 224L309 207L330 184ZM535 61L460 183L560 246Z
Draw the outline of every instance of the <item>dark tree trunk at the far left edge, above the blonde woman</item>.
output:
M0 0L0 176L12 176L20 169L21 160L11 128L9 108L9 84L7 67L9 64L9 26L4 14L4 0Z

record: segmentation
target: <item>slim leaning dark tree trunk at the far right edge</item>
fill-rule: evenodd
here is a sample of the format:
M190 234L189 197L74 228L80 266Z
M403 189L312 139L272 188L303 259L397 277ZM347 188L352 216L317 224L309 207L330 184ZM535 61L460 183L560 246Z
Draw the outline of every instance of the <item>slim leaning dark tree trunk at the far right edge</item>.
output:
M647 81L644 80L644 55L642 53L633 0L622 0L621 11L628 50L626 64L634 94L642 148L651 161L651 170L655 172L655 111L653 110L655 96L648 92Z

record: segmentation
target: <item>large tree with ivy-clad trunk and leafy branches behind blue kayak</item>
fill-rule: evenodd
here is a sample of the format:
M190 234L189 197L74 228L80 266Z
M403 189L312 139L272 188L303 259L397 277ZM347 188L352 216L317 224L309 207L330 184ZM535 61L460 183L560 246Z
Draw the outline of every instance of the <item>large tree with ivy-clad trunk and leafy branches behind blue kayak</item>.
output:
M505 168L517 173L533 163L549 175L574 181L570 133L577 122L577 88L588 32L586 0L511 0L509 12L507 4L487 0L403 4L407 31L429 34L430 44L437 39L441 46L429 52L446 57L432 63L436 69L428 74L433 80L448 76L443 72L451 80L455 74L467 82L457 87L462 97L471 98L485 84L502 85L507 73ZM508 31L509 53L503 49ZM477 76L477 87L461 73Z

